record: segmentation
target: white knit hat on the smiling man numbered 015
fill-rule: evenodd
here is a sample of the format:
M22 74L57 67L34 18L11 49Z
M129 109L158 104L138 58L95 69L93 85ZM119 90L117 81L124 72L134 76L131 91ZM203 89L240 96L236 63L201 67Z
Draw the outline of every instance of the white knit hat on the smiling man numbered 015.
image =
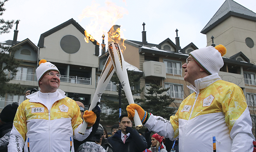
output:
M47 73L48 71L57 71L60 73L58 68L51 62L47 62L44 59L40 60L39 66L36 68L36 78L38 81L38 85L39 85L39 81L43 78L45 73Z

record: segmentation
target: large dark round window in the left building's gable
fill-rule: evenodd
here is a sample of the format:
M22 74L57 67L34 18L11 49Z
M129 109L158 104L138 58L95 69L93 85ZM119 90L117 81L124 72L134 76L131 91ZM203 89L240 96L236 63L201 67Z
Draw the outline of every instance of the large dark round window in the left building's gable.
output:
M73 35L65 35L60 40L60 47L66 53L72 54L76 53L80 49L80 42Z

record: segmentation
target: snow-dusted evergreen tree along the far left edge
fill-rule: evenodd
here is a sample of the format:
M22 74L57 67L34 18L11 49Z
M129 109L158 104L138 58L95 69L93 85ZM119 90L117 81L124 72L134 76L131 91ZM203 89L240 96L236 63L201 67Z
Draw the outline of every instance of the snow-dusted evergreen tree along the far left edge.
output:
M8 0L0 1L0 16L2 16L5 11L4 3L7 1ZM13 23L13 20L5 21L4 19L0 19L0 34L10 32ZM0 44L0 96L5 96L6 93L18 95L25 91L25 87L21 87L19 84L8 83L16 75L17 67L20 63L14 58L16 49ZM12 77L7 78L5 71L11 72Z

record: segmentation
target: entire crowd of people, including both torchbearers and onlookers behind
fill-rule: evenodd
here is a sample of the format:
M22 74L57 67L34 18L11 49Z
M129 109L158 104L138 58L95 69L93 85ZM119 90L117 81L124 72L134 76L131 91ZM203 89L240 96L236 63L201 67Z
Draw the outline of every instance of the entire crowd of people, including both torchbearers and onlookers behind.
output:
M66 97L58 89L58 68L41 60L36 69L40 91L26 95L20 106L7 105L0 114L0 151L252 152L255 138L243 91L218 76L225 53L222 45L189 53L182 68L194 93L169 120L130 104L111 136L100 124L99 103L85 111L80 99ZM133 129L135 110L145 132ZM87 129L79 134L83 120Z

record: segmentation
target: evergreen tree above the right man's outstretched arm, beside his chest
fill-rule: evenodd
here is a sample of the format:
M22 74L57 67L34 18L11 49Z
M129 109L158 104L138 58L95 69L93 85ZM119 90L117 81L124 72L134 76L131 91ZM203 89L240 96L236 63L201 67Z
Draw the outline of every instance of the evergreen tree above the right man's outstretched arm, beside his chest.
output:
M150 83L150 88L147 88L147 94L144 95L145 101L140 102L141 107L154 115L161 116L167 120L171 115L174 115L174 108L169 108L171 103L174 103L174 99L169 94L163 94L167 92L169 88L163 88L159 85Z

